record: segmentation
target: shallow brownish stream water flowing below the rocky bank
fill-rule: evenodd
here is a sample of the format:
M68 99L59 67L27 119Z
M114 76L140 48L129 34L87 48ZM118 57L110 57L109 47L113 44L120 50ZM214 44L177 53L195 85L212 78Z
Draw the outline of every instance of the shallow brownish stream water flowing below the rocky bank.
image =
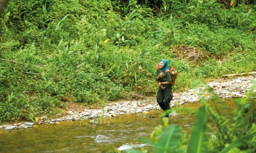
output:
M233 103L230 106L234 105ZM181 107L197 109L199 103ZM0 153L107 153L125 152L131 148L146 148L140 138L147 138L158 125L163 125L154 110L148 115L130 114L114 118L101 118L100 123L89 120L63 121L59 124L43 124L30 129L0 131ZM196 115L169 116L169 124L182 127L182 132L191 132ZM210 124L211 123L207 123ZM209 126L208 133L216 131Z

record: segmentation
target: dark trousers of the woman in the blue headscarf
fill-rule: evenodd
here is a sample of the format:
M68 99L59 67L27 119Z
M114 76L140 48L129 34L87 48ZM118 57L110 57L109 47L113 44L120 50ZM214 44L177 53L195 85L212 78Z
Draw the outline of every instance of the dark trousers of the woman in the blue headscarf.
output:
M158 90L157 101L158 105L164 111L170 109L170 101L173 99L172 86L168 86L165 90Z

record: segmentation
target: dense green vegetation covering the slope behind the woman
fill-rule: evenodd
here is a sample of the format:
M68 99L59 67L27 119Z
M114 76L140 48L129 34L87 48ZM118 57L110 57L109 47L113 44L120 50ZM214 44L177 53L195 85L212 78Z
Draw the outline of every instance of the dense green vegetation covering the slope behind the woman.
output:
M130 96L123 91L155 96L162 58L179 72L174 92L195 78L255 71L255 21L251 0L9 0L0 122Z

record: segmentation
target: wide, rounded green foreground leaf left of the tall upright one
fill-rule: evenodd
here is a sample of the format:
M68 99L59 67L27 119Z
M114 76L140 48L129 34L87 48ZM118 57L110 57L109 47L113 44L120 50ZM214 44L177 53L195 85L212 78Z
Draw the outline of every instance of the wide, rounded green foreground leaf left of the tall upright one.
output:
M158 144L154 146L153 153L173 152L179 143L180 135L181 135L181 127L177 125L169 126L161 134Z

